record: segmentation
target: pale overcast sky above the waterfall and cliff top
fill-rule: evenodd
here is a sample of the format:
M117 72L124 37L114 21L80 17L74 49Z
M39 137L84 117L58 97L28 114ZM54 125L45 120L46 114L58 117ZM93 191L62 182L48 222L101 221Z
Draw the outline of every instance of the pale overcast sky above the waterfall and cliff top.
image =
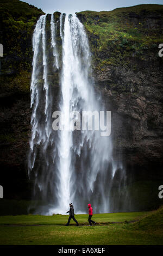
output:
M73 14L79 11L110 11L115 8L129 7L137 4L162 4L162 0L22 0L23 2L35 5L41 8L45 13L60 13Z

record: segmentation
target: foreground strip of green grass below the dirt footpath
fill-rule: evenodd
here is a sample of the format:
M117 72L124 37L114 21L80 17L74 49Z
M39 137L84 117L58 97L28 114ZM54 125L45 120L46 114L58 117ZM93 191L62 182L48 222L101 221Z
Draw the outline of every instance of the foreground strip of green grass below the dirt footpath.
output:
M162 245L160 234L100 227L1 227L1 245Z

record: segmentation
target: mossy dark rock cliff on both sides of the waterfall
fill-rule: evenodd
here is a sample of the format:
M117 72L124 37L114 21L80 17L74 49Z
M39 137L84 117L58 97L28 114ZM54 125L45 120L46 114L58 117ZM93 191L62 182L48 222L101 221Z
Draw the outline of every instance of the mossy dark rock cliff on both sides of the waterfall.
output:
M0 4L0 42L4 46L0 75L1 185L6 188L5 198L30 199L27 153L32 34L43 12L21 1L6 2ZM58 19L59 13L55 16ZM89 37L96 91L102 95L106 110L111 111L114 155L123 161L128 184L155 180L157 193L163 180L163 58L158 56L158 45L163 43L163 6L84 11L77 16Z

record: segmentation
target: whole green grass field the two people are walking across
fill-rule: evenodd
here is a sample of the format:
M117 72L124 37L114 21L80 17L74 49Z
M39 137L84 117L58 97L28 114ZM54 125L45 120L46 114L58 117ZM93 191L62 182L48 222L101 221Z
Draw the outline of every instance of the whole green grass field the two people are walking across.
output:
M151 212L87 215L0 216L0 245L163 245L163 207Z

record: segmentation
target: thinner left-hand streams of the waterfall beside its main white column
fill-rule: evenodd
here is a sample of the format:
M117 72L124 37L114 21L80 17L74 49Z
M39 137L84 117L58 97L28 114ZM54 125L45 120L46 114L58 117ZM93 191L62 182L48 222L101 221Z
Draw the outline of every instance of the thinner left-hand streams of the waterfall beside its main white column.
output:
M54 40L55 38L52 39L52 42L55 42ZM52 124L53 88L49 74L53 72L54 66L52 65L50 68L48 63L51 56L53 56L53 63L56 63L53 47L54 44L47 44L46 15L43 15L37 21L33 34L34 56L31 82L31 107L33 111L28 170L30 179L34 182L34 199L39 198L48 203L56 202L58 191L55 164L57 136L54 136L52 125L50 125ZM51 50L49 54L47 54L47 49Z

